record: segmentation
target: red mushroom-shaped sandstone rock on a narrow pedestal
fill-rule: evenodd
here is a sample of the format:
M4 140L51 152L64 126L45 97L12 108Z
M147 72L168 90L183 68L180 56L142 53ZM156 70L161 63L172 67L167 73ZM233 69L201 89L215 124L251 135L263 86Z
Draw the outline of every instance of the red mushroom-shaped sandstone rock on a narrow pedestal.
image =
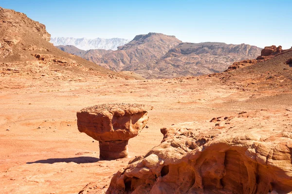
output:
M148 121L147 109L139 104L102 104L77 112L77 126L99 141L100 159L128 157L128 140L138 135Z

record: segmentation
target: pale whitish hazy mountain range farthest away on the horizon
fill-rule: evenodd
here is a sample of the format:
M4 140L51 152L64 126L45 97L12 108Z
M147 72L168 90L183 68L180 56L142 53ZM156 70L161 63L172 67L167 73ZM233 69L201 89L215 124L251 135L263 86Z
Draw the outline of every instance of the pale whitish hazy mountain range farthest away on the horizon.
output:
M73 45L74 47L82 50L90 49L106 49L106 50L116 50L117 47L123 46L128 43L130 40L124 38L66 38L66 37L55 37L51 38L51 43L54 46L59 45Z

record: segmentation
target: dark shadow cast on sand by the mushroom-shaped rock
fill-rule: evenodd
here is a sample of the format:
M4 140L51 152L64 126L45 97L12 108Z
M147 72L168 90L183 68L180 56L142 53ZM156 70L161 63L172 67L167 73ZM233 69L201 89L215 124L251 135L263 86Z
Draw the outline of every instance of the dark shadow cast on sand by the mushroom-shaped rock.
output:
M47 160L39 160L35 162L26 162L27 164L32 164L32 163L56 163L56 162L75 162L75 163L93 163L93 162L98 162L99 158L94 158L94 157L86 157L86 156L81 156L81 157L75 157L75 158L50 158Z

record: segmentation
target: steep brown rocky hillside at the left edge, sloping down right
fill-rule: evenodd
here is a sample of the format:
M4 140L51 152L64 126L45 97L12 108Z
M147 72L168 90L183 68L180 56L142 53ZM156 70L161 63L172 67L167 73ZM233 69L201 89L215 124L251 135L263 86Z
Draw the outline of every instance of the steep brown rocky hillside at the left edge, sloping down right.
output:
M50 34L45 25L23 13L0 8L1 75L18 72L18 75L48 76L54 79L56 74L62 72L62 77L85 74L125 77L81 57L63 52L49 43L49 40Z

